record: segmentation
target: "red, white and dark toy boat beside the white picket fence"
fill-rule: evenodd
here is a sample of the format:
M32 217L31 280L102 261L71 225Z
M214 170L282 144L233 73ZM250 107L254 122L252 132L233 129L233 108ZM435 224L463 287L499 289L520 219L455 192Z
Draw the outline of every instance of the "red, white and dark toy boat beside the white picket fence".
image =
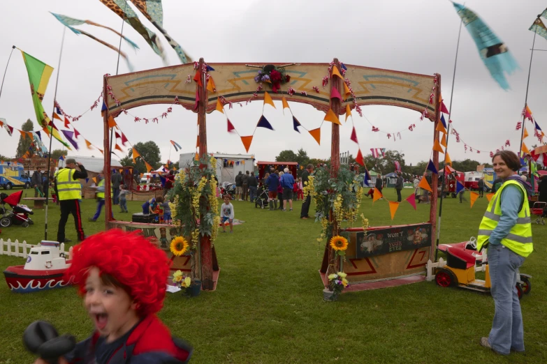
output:
M30 293L68 285L63 280L71 261L59 252L57 241L42 241L31 248L24 266L8 266L3 275L11 291Z

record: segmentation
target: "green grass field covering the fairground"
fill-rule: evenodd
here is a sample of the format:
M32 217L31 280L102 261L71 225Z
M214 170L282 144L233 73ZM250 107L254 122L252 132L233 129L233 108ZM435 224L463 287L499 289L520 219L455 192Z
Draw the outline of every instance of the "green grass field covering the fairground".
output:
M395 190L384 190L395 200ZM412 192L403 190L403 199ZM29 192L30 195L31 192ZM469 197L467 196L469 199ZM445 199L441 243L476 236L487 199L473 208L469 201ZM215 243L221 273L217 291L196 298L168 294L159 317L174 335L194 345L191 363L547 363L547 290L545 241L547 226L533 226L535 251L521 268L532 278L532 292L521 301L526 356L502 357L479 346L488 335L494 314L488 294L442 288L435 282L343 294L323 302L319 267L323 245L319 223L300 220L294 212L266 211L249 202L233 202L235 218L245 224L234 234L219 234ZM128 202L138 212L139 202ZM312 206L313 207L313 206ZM428 220L430 205L418 211L403 202L390 218L388 204L363 202L370 225L400 225ZM84 229L93 234L103 222L87 222L93 200L82 203ZM50 208L50 238L57 236L58 206ZM128 220L129 214L116 218ZM104 212L101 219L104 217ZM43 238L43 211L36 224L8 227L0 238L38 243ZM67 238L76 240L72 220ZM0 268L24 259L0 256ZM61 333L82 340L92 323L75 289L13 294L0 282L0 363L31 363L22 332L32 321L51 321Z

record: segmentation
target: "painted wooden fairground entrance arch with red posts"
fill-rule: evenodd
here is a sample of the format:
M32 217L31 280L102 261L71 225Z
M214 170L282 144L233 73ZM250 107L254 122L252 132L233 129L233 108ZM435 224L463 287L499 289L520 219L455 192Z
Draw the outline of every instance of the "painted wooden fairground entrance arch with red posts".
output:
M259 65L260 63L255 64ZM274 64L279 67L285 66L287 63L264 63L261 66L266 64ZM284 84L279 93L273 93L266 84L261 91L256 91L258 86L254 81L257 73L256 66L252 67L245 63L208 63L207 65L208 69L214 69L210 71L216 85L216 92L213 93L206 89L207 66L203 59L200 59L196 65L187 63L180 66L103 77L103 95L107 108L103 117L106 229L117 226L117 222L110 219L112 211L109 183L111 153L108 119L110 116L116 117L123 110L143 105L173 104L177 98L182 107L198 114L199 156L200 160L204 160L207 156L206 114L215 109L217 99L221 96L228 102L242 102L250 98L263 100L264 92L269 91L273 100L282 100L282 97L285 96L289 101L312 105L323 112L333 109L337 115L344 114L346 105L354 107L351 98L343 101L338 98L330 98L333 88L336 88L340 95L344 95L342 79L333 77L332 70L329 70L329 67L333 65L331 69L336 68L342 74L342 68L337 59L334 59L333 63L291 63L285 68L286 74L291 75L291 81L289 84ZM440 75L428 76L363 66L344 66L346 68L344 78L351 82L358 105L392 105L413 109L420 113L424 109L428 109L428 118L434 122L434 140L438 139L439 131L436 128L440 121ZM321 87L322 80L327 72L328 87L323 88ZM201 82L195 82L192 79L200 79ZM289 86L296 91L292 96L286 92ZM319 87L319 93L311 91L313 86ZM433 91L434 99L430 103L432 90L435 90ZM306 91L307 94L302 91ZM255 93L258 97L253 98ZM119 105L115 103L112 95L117 98ZM340 133L339 126L335 123L332 123L330 160L330 173L332 176L336 176L340 168ZM435 167L438 167L439 153L437 151L433 152L433 162ZM437 174L432 176L432 185L437 186ZM435 236L436 211L437 188L433 188L430 206L432 236ZM435 247L432 245L430 255L434 251ZM214 248L207 236L200 238L198 252L200 253L198 261L201 267L202 287L203 289L214 289L216 287L215 272L218 272L219 268ZM333 259L333 250L326 245L326 258L323 259L321 271L326 271L325 261L331 259ZM340 268L340 262L337 263L336 268Z

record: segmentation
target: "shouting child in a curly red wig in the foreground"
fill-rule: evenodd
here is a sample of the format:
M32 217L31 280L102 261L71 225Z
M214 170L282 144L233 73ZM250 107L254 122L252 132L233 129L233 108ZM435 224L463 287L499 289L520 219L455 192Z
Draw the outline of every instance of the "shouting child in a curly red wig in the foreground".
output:
M112 229L76 245L65 278L78 285L95 331L60 363L187 363L192 348L156 317L168 274L165 252L137 233Z

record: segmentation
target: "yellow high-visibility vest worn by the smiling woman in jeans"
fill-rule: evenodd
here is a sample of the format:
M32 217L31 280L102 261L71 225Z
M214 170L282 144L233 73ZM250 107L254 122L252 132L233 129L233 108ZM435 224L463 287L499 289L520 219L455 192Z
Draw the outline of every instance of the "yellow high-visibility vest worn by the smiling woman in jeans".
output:
M499 219L502 217L502 191L508 185L516 185L523 192L523 207L518 211L516 224L511 227L511 231L505 236L501 243L523 257L530 255L534 246L532 244L532 224L530 221L530 205L526 198L526 190L517 181L506 181L494 197L490 200L488 208L484 213L481 226L479 227L479 236L477 236L476 250L480 251L483 245L488 242L488 237L492 234Z

